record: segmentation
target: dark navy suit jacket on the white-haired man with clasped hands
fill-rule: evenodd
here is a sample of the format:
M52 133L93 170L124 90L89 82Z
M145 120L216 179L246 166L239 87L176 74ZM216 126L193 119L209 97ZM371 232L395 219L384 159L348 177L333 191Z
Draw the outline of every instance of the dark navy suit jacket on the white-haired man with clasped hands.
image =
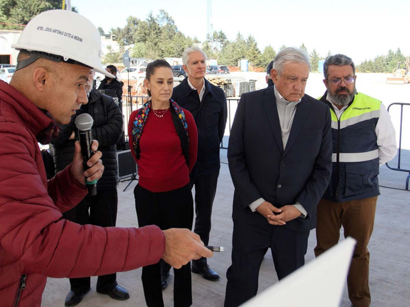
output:
M228 161L235 186L234 220L268 225L265 217L249 208L263 198L275 207L299 202L308 212L306 218L278 227L315 228L316 206L332 171L329 107L304 95L283 150L274 87L242 94L229 138Z

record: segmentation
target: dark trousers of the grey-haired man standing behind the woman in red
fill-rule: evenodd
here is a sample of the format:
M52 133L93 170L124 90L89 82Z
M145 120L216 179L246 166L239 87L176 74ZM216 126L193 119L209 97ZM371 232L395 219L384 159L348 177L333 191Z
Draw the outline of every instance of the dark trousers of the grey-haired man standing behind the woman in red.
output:
M211 231L212 205L215 199L219 170L210 175L191 177L191 188L195 187L195 227L205 245L209 243Z

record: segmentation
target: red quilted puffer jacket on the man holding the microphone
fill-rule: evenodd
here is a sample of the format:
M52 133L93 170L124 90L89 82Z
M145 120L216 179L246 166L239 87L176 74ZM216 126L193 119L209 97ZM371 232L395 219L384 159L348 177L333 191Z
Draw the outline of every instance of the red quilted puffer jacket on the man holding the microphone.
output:
M61 218L87 193L70 167L47 182L36 135L53 121L0 81L0 307L40 306L46 276L86 277L158 262L156 226L102 228Z

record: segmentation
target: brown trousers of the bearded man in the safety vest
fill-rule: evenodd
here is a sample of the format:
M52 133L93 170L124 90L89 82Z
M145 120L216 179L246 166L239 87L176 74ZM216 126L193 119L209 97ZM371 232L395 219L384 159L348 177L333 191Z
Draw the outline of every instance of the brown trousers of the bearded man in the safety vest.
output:
M341 226L344 229L344 237L351 236L357 240L347 275L347 290L355 307L370 306L370 253L367 244L373 232L376 202L377 196L343 203L321 200L317 207L316 256L339 242Z

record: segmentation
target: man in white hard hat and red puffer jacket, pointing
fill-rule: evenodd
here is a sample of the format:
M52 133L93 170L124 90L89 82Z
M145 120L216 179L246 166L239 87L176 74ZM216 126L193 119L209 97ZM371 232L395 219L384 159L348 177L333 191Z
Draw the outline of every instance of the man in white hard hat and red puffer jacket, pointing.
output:
M64 220L61 212L87 194L87 181L103 173L101 152L84 171L80 146L73 163L47 182L37 142L56 135L87 103L90 68L100 63L98 30L85 17L62 10L34 17L12 46L16 72L0 81L0 297L1 306L40 306L47 276L85 277L133 270L160 258L175 268L211 256L188 229L102 228Z

